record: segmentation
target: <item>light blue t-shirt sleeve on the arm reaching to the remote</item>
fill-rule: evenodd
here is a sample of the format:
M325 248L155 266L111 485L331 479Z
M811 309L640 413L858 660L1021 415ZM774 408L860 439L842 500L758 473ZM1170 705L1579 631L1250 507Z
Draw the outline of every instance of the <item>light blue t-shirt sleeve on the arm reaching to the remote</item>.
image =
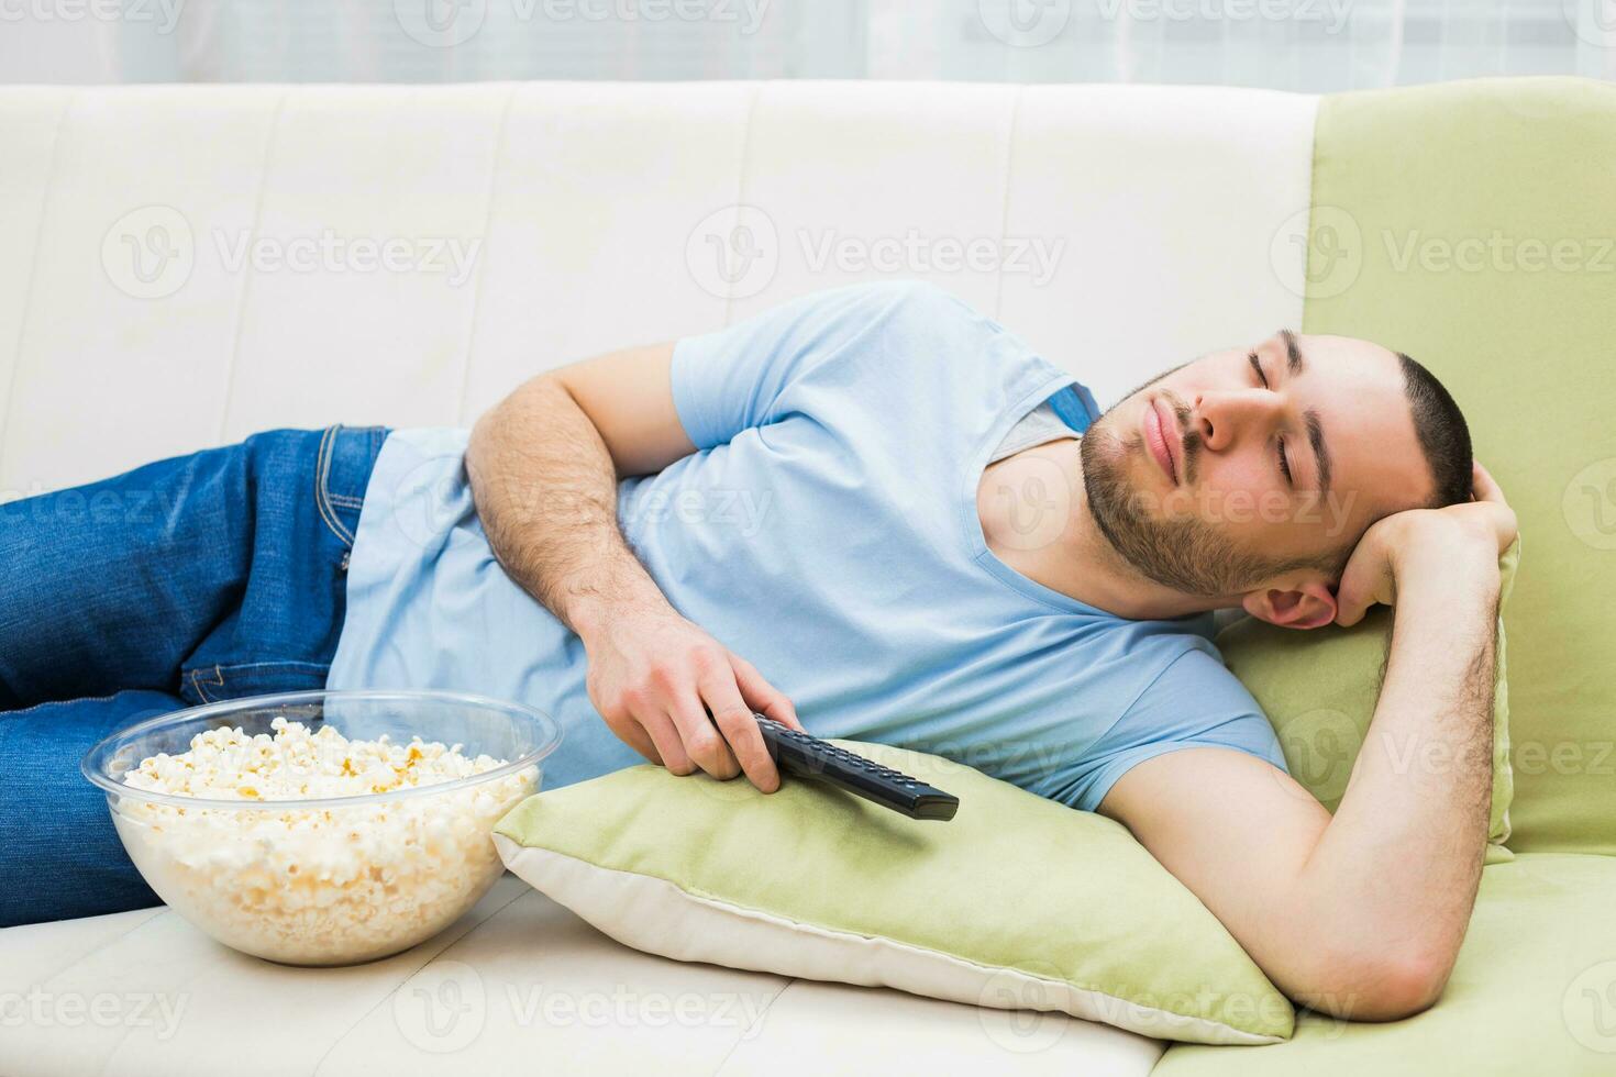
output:
M913 281L853 284L764 310L674 346L674 409L696 449L730 441L800 410L813 383L869 391L861 375L897 362L897 339L928 312L965 310ZM897 328L895 328L897 323Z

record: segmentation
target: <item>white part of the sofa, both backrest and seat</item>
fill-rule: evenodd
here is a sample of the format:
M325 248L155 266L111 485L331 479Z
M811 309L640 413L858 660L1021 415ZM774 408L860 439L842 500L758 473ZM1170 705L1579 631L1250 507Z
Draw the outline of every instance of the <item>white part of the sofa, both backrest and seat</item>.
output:
M538 370L879 276L955 291L1105 402L1299 323L1315 108L957 84L5 89L0 497L270 426L470 423ZM509 875L436 940L341 970L239 956L163 909L10 928L0 1003L8 1075L1097 1077L1164 1050L638 954Z

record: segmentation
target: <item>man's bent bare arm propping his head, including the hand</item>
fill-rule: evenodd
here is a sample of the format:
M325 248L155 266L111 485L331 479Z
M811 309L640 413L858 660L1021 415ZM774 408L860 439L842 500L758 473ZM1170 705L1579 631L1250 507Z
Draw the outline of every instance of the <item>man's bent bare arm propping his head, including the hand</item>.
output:
M1464 940L1492 793L1496 557L1514 531L1501 494L1495 504L1388 517L1359 544L1341 620L1393 599L1396 618L1333 819L1272 765L1210 748L1139 764L1100 806L1314 1009L1417 1012Z

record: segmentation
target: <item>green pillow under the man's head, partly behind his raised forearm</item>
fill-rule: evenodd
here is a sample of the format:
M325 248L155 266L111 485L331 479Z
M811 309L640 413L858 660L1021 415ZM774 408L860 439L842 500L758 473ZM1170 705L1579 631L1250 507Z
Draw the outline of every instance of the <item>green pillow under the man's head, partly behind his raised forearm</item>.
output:
M1514 586L1521 539L1498 559L1503 576L1500 610ZM1353 762L1375 717L1387 647L1391 643L1391 610L1377 607L1351 628L1296 631L1275 628L1252 617L1241 618L1217 636L1223 662L1251 694L1280 735L1291 777L1332 812L1341 803ZM1493 683L1493 807L1487 835L1487 862L1509 861L1509 801L1514 773L1509 769L1509 691L1504 677L1504 625L1498 622L1498 677ZM1441 764L1438 757L1433 762ZM1409 765L1414 765L1414 759Z

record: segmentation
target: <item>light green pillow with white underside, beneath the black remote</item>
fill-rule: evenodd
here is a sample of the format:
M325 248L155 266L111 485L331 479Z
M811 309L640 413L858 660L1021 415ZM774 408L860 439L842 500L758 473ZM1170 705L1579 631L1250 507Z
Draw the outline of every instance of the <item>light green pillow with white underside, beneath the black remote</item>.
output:
M494 844L617 941L680 961L1193 1043L1291 1035L1285 996L1122 825L937 756L839 743L953 793L958 815L640 765L530 796Z

